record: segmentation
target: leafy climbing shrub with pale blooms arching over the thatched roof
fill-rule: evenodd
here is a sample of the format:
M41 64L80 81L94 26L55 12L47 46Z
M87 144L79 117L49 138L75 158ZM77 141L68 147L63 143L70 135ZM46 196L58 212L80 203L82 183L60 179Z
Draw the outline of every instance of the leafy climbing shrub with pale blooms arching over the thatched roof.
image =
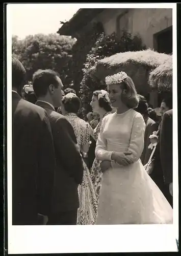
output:
M119 52L140 51L144 49L146 47L142 44L142 40L138 35L132 35L126 31L123 31L121 37L118 37L116 33L111 35L100 34L94 47L87 54L83 68L84 76L81 81L80 93L87 112L91 110L89 104L93 91L105 89L104 82L93 79L90 76L90 69L95 67L97 61Z

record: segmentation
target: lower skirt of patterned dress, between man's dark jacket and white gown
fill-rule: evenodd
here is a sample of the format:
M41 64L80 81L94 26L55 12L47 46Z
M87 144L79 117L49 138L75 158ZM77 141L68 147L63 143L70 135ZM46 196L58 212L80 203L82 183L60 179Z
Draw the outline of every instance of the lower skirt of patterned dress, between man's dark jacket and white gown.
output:
M97 198L90 178L90 172L84 163L83 182L78 187L80 207L77 210L77 225L93 225L97 216Z

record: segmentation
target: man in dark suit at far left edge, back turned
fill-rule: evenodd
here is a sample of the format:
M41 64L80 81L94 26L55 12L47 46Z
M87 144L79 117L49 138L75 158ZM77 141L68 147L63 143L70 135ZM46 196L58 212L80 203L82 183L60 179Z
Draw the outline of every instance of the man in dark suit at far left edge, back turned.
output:
M37 225L49 215L55 154L46 112L18 94L24 79L12 57L12 224Z

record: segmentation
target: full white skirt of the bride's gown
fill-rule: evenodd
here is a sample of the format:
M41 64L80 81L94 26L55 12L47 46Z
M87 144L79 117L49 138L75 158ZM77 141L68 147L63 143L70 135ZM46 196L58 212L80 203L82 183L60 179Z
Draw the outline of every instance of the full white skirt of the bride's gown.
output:
M96 225L172 224L173 210L141 160L102 175Z

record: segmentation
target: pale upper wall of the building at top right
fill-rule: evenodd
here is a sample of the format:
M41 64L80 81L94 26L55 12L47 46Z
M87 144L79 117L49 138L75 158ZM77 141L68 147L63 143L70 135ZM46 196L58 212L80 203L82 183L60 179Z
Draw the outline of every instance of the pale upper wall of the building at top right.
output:
M125 14L119 19L123 13ZM120 30L139 34L146 47L153 49L153 35L172 26L172 9L107 9L97 15L91 21L93 22L101 22L108 35L120 32L117 31L119 23Z

